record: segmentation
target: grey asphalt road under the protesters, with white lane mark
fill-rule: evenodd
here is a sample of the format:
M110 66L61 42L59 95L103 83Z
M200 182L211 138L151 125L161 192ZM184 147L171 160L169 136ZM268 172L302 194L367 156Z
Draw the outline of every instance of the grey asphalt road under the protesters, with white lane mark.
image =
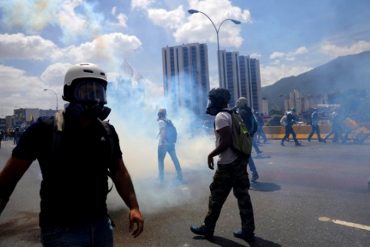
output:
M270 158L255 159L260 180L250 190L257 245L266 247L369 247L370 145L303 143L285 147L272 141L261 148ZM0 168L11 149L0 149ZM116 246L248 246L233 237L240 226L235 197L226 201L213 242L193 235L201 223L213 172L206 164L185 169L185 185L171 176L166 185L150 178L133 178L145 216L145 231L134 239L128 233L127 209L116 192L109 194L116 224ZM40 171L33 164L17 185L0 217L0 246L40 246L38 229Z

